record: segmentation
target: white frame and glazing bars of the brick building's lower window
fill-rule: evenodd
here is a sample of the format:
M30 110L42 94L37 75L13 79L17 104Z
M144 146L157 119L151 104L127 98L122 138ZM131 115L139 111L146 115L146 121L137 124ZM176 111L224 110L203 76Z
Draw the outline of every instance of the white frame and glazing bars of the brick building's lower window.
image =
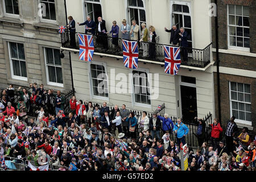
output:
M234 82L234 81L229 81L229 106L230 106L230 118L233 116L233 112L232 112L232 101L234 102L241 102L241 103L245 103L245 104L250 104L251 105L251 102L245 102L245 101L238 101L238 100L232 100L231 99L231 82ZM243 83L240 83L240 82L236 82L237 84L243 84ZM244 85L244 84L243 84ZM248 84L249 85L249 84ZM251 84L250 84L250 88L251 88ZM238 89L238 88L237 88ZM234 91L234 92L238 92L238 91ZM240 92L240 93L245 93L245 92ZM251 95L251 90L250 90L250 95ZM239 111L238 110L238 114L239 114ZM246 111L245 111L246 112ZM250 112L247 112L247 113L251 113ZM252 126L252 122L251 121L245 121L245 120L241 120L241 119L238 119L236 118L235 119L235 122L237 123L240 123L241 125L249 125L249 126Z

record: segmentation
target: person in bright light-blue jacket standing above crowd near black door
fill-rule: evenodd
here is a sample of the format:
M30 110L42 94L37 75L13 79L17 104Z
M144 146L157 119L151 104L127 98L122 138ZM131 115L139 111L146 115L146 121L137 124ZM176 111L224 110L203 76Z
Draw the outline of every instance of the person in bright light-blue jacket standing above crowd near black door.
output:
M189 131L188 127L184 125L181 122L181 119L179 118L177 120L177 123L174 125L174 132L175 132L177 144L179 147L180 147L180 142L182 142L183 145L186 143L185 135L188 134L188 131Z

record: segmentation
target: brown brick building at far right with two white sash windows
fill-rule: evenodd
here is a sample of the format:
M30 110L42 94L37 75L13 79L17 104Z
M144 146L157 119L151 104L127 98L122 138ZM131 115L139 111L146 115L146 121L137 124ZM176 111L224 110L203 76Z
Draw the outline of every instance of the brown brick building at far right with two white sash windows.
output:
M214 1L212 1L214 3ZM221 93L221 117L222 117L222 125L226 125L226 122L229 121L232 115L236 115L237 125L239 128L248 127L250 133L255 133L256 131L256 2L251 0L244 1L234 1L234 0L218 0L217 1L217 16L218 16L218 46L219 46L219 60L220 60L220 93ZM235 6L234 6L235 5ZM233 25L233 8L236 9L235 15L235 24L234 33L232 33ZM242 18L242 23L240 24L240 9L242 9L242 15L249 13L249 18ZM234 16L235 16L234 15ZM245 25L246 20L249 21ZM246 27L246 28L245 28ZM243 28L243 29L241 29ZM249 41L250 44L245 46L245 40L248 40L245 37L245 30L249 28ZM240 29L243 30L241 36L243 41L243 46L233 46L231 39L233 38L237 40L240 39ZM215 18L212 18L212 40L213 47L216 48L216 32L215 32ZM247 35L248 36L248 35ZM232 42L232 43L231 43ZM241 43L241 42L239 42ZM232 45L232 46L230 46ZM246 48L245 48L246 47ZM213 59L216 60L216 51L213 50ZM216 63L215 63L216 65ZM218 118L218 93L217 93L217 73L214 71L214 93L215 93L215 109L216 109L216 117ZM243 92L238 92L231 88L232 84L241 86L245 89L246 86L250 88L249 91L243 90ZM238 88L237 88L238 89ZM241 91L241 90L240 90ZM244 94L244 98L238 98L237 96L233 96L231 94ZM248 93L248 94L247 94ZM249 98L245 98L250 96ZM235 101L237 99L237 102ZM243 100L244 99L244 100ZM246 100L246 101L245 101ZM234 101L234 102L233 102ZM243 107L245 104L245 107ZM238 105L239 108L236 106ZM233 109L237 109L237 112ZM240 110L241 109L241 110ZM243 112L245 111L245 112ZM246 115L246 111L248 111L247 118L243 118L243 113ZM233 113L234 112L234 113ZM250 116L249 116L250 114Z

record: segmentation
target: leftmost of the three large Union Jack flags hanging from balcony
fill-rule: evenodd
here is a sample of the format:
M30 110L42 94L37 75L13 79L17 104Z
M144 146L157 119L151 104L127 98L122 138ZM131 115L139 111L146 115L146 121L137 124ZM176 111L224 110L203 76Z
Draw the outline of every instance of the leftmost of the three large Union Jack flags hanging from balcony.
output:
M79 59L83 61L92 61L94 52L93 36L85 34L78 34L78 36Z

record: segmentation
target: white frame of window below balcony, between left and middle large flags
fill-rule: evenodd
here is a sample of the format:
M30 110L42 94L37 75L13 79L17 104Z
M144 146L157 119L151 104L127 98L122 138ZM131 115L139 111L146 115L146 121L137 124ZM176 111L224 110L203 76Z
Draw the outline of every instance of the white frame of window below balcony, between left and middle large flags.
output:
M106 73L106 81L107 81L107 85L108 85L108 96L109 95L109 76L108 76L108 70L106 67L106 63L100 62L100 61L93 61L92 62L88 62L88 78L89 78L89 84L90 84L90 98L91 99L96 99L96 100L102 100L102 101L109 101L109 97L102 97L102 96L96 96L93 93L93 82L92 82L92 73L91 73L91 64L96 64L96 65L102 65L105 68L105 73Z

